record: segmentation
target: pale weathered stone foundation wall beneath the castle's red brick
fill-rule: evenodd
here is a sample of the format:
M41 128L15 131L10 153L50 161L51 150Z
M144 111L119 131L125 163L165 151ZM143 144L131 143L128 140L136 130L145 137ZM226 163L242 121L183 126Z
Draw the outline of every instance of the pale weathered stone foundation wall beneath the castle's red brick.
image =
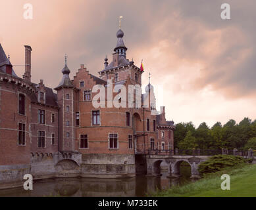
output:
M34 154L30 165L0 165L0 189L22 186L25 174L34 180L135 177L135 158L131 154Z

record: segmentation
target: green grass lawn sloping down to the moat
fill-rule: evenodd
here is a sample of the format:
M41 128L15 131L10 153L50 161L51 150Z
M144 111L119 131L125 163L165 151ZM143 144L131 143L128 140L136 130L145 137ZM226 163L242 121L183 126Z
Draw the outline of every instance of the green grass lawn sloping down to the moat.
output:
M230 190L221 190L221 175L230 175ZM256 165L243 165L205 175L203 179L184 186L174 186L152 196L238 197L256 196Z

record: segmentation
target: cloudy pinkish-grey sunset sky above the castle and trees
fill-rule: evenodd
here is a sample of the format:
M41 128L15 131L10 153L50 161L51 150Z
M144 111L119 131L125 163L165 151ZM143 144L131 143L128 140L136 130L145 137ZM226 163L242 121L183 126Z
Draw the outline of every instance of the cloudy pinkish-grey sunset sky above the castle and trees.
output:
M24 19L24 5L33 19ZM222 3L231 19L222 20ZM32 82L55 88L64 54L70 78L84 64L91 74L112 60L119 16L127 58L145 72L142 83L163 87L166 119L205 121L210 127L229 119L256 119L256 28L253 0L9 0L0 1L0 43L13 65L24 64L24 45L32 47ZM14 66L20 77L24 67ZM160 88L159 88L160 89Z

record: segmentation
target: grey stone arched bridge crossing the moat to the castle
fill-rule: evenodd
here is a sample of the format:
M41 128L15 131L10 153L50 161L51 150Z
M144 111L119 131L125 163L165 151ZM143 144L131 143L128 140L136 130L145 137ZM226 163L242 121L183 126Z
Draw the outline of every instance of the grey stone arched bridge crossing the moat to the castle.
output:
M147 175L159 176L161 175L161 163L164 161L168 165L168 173L170 177L180 177L180 163L185 161L190 164L191 178L199 178L198 165L206 161L209 156L163 156L154 155L146 156L147 159Z

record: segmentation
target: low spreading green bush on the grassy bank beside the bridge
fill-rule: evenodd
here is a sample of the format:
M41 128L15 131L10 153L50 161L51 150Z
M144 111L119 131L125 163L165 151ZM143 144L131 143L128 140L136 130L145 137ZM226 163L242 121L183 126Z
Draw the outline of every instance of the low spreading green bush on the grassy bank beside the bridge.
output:
M246 159L239 156L217 155L212 156L203 163L200 163L198 166L198 171L201 174L215 173L226 167L233 167L245 163L247 163Z

